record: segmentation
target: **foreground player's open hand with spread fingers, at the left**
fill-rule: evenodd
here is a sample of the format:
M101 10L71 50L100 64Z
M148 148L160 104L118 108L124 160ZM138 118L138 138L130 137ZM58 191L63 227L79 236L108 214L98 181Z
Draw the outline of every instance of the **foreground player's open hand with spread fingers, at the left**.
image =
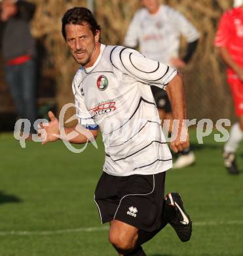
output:
M51 111L48 112L48 117L50 121L48 123L40 123L37 130L38 135L45 137L42 142L43 145L47 144L47 142L58 140L58 135L60 135L58 119Z

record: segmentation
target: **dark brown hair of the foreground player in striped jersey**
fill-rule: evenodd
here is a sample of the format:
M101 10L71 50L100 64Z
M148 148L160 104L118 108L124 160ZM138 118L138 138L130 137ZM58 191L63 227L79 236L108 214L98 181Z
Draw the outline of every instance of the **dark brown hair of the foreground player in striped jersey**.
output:
M88 24L93 35L96 34L96 30L102 30L92 12L84 7L73 7L65 12L62 17L62 35L64 39L66 39L65 25L67 24Z

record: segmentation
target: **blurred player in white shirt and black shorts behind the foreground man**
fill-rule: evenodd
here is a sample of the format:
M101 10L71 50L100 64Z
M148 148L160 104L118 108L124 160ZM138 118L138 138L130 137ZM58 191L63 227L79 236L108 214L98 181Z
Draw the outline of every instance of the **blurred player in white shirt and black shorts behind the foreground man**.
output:
M152 60L175 68L184 68L196 49L199 33L180 12L159 0L141 0L145 8L136 12L124 39L126 47L139 46L142 54ZM179 58L180 37L188 43L187 53ZM160 119L172 120L172 107L165 91L152 87ZM171 125L170 125L171 127ZM171 129L171 128L170 128ZM185 148L178 155L174 168L182 168L195 162L195 155Z

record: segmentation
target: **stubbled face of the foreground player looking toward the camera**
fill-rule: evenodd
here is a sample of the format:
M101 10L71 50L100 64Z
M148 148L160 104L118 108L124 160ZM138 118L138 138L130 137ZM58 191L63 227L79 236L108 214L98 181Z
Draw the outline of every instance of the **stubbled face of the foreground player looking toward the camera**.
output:
M93 35L88 24L67 24L65 33L67 45L76 62L85 68L92 66L97 55L100 32L97 30L96 35Z

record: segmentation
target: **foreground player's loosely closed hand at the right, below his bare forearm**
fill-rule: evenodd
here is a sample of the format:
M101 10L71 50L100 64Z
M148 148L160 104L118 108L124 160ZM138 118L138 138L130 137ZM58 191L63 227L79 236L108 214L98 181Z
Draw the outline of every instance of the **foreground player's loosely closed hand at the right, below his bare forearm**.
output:
M176 133L176 134L175 134ZM189 148L189 134L187 129L181 129L181 131L172 131L172 139L170 142L170 148L174 153L183 151L185 148Z

